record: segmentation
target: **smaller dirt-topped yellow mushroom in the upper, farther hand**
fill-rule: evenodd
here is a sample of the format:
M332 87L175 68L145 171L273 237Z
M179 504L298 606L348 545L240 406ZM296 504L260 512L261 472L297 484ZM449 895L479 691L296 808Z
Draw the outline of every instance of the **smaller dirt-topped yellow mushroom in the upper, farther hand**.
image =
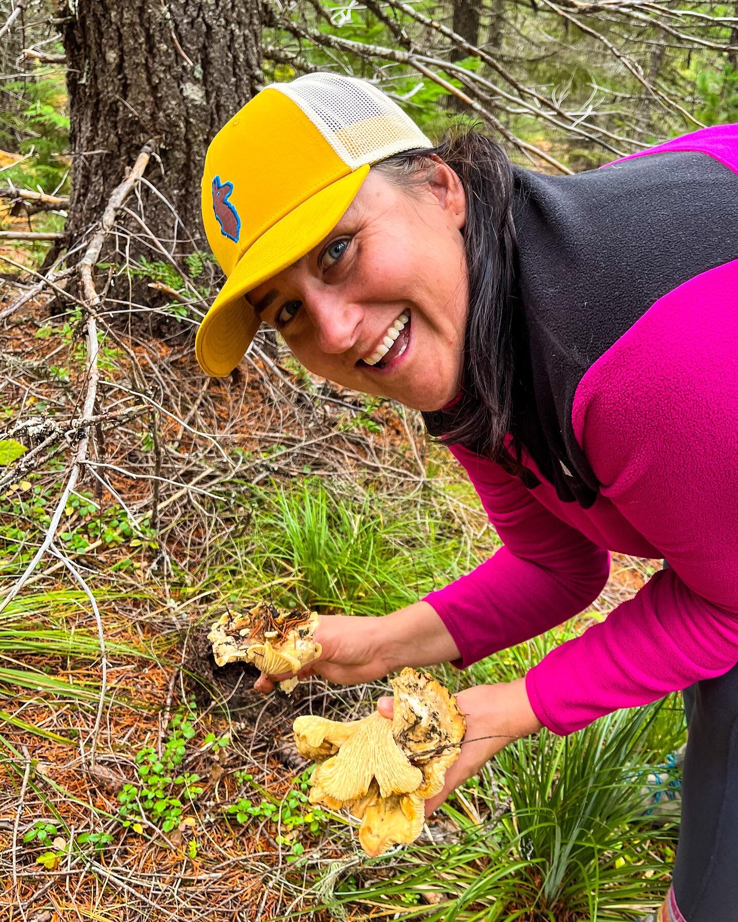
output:
M241 614L222 615L208 632L219 666L244 660L270 675L297 672L321 654L313 640L318 618L315 611L286 611L260 603ZM280 682L292 691L297 679Z

